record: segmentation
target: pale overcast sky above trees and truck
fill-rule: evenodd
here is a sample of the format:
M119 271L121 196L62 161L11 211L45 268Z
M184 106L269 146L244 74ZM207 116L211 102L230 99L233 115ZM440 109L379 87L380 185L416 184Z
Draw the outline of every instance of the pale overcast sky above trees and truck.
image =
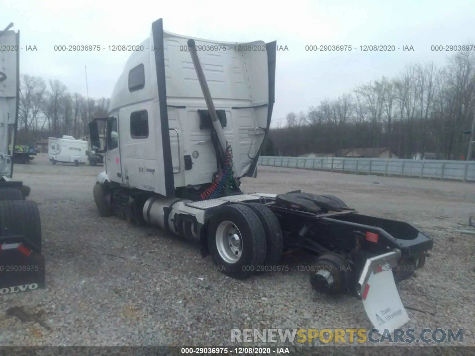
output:
M356 5L357 4L357 5ZM355 84L393 76L405 64L446 63L431 45L475 45L474 0L328 1L38 1L1 0L0 27L21 32L20 70L59 79L71 93L109 97L130 52L55 52L55 45L138 45L154 20L166 31L221 41L277 40L273 124ZM306 45L404 45L413 52L308 52Z

